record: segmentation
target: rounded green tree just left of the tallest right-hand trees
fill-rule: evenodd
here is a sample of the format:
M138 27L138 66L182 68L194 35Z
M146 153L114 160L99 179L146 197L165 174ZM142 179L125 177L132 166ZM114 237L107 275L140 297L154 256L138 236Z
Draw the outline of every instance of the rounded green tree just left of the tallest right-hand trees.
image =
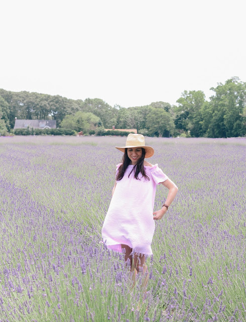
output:
M151 109L147 116L148 129L150 134L157 133L159 137L163 135L173 135L175 126L171 115L163 109ZM166 132L166 133L165 133Z

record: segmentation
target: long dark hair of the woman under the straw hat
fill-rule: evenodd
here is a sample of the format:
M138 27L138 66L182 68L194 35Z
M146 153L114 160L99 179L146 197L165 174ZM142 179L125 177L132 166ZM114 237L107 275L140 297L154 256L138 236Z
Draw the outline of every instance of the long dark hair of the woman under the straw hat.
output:
M142 148L142 155L140 157L140 159L138 160L137 164L132 168L132 171L134 171L134 178L137 180L141 180L138 178L139 173L141 173L141 175L146 179L149 180L149 177L146 175L145 170L144 170L144 166L143 166L143 161L144 161L144 157L145 157L145 149ZM126 172L127 167L130 165L131 160L129 159L128 155L127 155L127 148L125 148L125 153L122 157L122 165L120 165L117 176L116 176L116 180L119 181L124 177L124 174ZM132 173L132 171L129 173L128 178L130 177L130 174Z

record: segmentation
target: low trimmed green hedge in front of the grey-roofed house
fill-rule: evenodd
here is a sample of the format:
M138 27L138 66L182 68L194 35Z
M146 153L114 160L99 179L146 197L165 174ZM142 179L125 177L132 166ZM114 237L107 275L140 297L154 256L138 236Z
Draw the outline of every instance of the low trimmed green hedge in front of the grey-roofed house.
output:
M15 129L15 135L76 135L76 132L70 129Z

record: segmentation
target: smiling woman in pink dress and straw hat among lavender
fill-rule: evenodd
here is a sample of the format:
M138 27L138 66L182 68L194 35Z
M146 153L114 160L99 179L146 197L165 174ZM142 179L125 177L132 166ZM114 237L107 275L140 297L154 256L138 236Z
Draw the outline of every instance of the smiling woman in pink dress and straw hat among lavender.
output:
M145 255L152 255L154 220L165 215L178 188L157 164L153 166L145 160L154 154L154 149L145 145L143 135L129 134L126 146L116 148L124 155L116 169L102 236L109 249L125 253L125 261L130 263L132 271L146 272ZM160 183L169 193L162 208L153 212L156 184Z

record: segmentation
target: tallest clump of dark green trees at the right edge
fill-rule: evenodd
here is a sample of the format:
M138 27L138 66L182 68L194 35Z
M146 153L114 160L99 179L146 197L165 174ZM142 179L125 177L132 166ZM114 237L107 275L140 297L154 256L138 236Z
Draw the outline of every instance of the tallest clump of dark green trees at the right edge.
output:
M246 135L246 83L237 77L211 88L215 94L205 101L201 91L185 91L177 101L175 126L193 137L237 137Z

